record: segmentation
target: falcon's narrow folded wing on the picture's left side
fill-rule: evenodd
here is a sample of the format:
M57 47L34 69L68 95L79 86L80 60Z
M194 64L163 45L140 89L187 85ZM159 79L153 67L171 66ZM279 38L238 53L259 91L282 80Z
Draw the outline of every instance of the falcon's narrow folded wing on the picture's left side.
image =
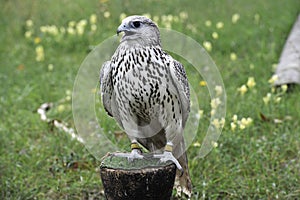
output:
M112 77L111 77L111 63L110 61L106 61L103 63L101 71L100 71L100 91L101 91L101 99L103 106L106 112L112 115L111 108L111 100L112 100Z

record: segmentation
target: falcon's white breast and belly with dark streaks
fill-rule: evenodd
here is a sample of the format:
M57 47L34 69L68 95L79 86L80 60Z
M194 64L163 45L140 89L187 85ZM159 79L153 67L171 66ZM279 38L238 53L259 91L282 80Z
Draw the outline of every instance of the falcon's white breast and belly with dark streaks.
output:
M172 96L169 87L171 60L160 47L120 47L111 62L112 85L121 113L129 112L149 121L158 115L156 109L164 107L165 101L178 99L175 94Z

